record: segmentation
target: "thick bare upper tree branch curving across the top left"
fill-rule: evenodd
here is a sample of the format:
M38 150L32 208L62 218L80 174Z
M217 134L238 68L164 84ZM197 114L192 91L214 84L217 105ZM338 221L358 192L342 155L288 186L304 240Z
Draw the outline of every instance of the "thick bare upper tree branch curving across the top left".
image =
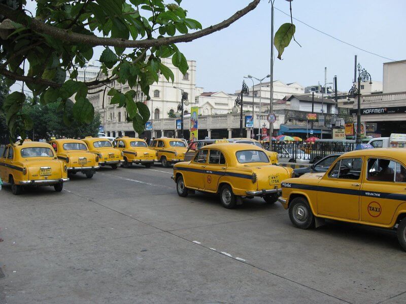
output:
M248 6L244 9L236 12L230 18L216 24L209 26L205 29L183 34L177 35L173 37L163 37L159 39L144 39L144 40L126 40L120 38L106 38L106 37L97 37L97 36L90 36L80 33L75 33L69 30L57 28L54 26L50 26L45 24L42 21L39 21L36 18L31 18L27 16L23 11L15 11L10 9L8 6L1 4L0 11L2 14L13 20L14 22L18 22L24 24L27 27L30 27L32 30L37 31L39 33L48 34L55 39L59 39L61 41L70 42L70 43L83 43L91 46L112 46L112 47L121 47L121 48L150 48L150 47L158 47L162 45L174 44L179 42L190 42L200 37L207 36L211 33L219 31L228 27L230 24L234 23L235 21L239 20L244 15L248 14L252 10L254 10L260 0L253 0Z

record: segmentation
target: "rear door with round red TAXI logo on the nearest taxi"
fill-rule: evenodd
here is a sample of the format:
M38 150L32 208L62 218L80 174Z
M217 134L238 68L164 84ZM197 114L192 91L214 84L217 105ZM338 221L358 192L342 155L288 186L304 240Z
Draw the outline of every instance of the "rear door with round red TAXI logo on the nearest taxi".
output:
M389 224L406 201L406 169L391 159L369 157L361 186L361 220Z

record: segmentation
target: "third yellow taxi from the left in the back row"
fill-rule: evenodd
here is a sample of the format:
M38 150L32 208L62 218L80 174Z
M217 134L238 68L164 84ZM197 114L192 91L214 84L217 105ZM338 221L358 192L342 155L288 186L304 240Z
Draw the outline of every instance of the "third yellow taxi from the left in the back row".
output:
M123 151L113 147L113 144L107 138L88 136L82 139L91 153L98 156L99 166L111 166L117 169L117 166L123 161Z

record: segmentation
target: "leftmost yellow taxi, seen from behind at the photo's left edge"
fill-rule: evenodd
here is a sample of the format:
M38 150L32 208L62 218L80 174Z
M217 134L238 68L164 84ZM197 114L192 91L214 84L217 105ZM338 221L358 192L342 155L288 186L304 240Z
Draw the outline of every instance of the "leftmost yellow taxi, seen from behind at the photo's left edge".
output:
M11 184L14 195L24 186L54 186L61 192L69 181L66 166L56 158L49 143L24 141L22 145L9 144L0 156L0 178Z

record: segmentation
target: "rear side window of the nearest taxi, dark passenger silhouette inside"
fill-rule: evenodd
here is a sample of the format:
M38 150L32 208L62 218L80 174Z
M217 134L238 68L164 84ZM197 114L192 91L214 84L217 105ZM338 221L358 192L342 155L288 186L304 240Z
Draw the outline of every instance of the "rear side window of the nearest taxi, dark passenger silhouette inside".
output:
M367 180L373 181L395 181L396 165L399 165L399 173L402 167L395 161L387 159L370 158L368 159ZM399 178L400 174L399 174Z

